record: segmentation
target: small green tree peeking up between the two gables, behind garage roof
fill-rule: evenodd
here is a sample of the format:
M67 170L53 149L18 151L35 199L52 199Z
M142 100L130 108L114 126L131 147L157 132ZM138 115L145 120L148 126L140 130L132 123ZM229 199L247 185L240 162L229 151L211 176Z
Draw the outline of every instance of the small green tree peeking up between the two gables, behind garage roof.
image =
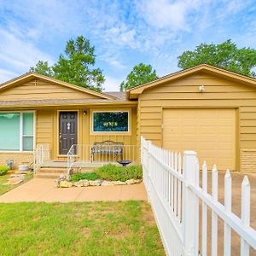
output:
M158 77L152 66L140 63L133 67L125 81L119 85L120 91L129 90L137 85L145 84L155 79L158 79Z

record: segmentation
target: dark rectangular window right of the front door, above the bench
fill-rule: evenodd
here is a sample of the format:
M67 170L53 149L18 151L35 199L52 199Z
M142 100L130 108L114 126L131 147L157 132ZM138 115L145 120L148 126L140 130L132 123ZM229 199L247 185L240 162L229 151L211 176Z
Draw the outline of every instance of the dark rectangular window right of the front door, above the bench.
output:
M128 111L95 111L92 113L93 132L128 132Z

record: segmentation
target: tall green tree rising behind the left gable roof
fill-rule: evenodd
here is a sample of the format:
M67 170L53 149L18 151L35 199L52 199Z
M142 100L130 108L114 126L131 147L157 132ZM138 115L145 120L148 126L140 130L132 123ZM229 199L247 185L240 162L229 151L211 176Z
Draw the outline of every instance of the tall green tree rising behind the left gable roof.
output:
M79 36L74 41L67 41L65 54L61 54L53 67L49 67L47 61L38 61L35 71L60 79L62 81L77 84L90 90L102 91L104 76L100 68L93 68L96 62L95 48L90 41Z

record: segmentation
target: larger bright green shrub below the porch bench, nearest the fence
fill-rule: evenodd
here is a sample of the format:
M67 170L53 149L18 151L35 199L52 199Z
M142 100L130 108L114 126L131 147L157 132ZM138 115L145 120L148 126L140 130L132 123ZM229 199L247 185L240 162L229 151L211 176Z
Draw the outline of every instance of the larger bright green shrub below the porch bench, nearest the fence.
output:
M96 173L102 177L102 179L109 181L123 181L125 182L128 179L142 178L143 177L143 168L142 166L114 166L106 165L96 169Z

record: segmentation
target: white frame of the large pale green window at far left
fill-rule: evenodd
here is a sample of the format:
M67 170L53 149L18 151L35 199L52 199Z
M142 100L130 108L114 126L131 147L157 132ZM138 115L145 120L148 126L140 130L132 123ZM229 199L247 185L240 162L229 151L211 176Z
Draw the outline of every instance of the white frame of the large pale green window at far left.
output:
M26 111L0 111L0 113L20 113L20 150L1 150L0 153L18 153L18 152L24 152L24 153L32 153L35 150L36 145L36 111L35 110L26 110ZM32 136L24 136L23 135L23 113L33 113L33 134ZM23 150L23 137L33 137L33 149L32 150Z

